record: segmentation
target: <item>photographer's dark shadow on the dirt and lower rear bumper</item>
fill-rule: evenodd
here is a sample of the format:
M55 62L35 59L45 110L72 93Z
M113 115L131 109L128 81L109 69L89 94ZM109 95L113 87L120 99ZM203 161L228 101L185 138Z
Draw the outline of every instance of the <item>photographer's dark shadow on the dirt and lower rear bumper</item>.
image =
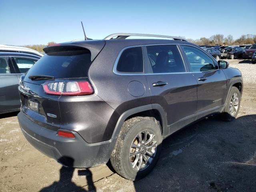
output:
M82 186L77 186L73 181L72 177L75 168L72 168L74 162L73 158L63 156L59 159L60 162L68 162L70 167L62 166L60 168L60 179L58 182L53 182L50 186L47 186L40 190L40 192L96 192L94 183L92 181L92 172L89 169L78 170L79 176L86 176L84 186L88 186L88 190L85 190Z

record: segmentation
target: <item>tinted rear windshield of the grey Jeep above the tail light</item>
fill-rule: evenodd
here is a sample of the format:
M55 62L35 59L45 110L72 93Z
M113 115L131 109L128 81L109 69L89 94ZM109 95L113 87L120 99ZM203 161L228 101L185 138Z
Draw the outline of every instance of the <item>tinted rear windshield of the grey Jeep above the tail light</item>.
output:
M87 77L91 54L86 50L59 51L45 54L28 71L30 75L48 75L55 78Z

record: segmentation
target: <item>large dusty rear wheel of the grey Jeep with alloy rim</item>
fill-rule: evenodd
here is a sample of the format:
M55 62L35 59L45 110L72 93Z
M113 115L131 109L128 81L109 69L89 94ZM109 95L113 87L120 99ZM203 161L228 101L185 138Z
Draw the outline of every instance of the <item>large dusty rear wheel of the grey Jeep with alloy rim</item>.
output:
M154 137L145 144L144 135L147 135L146 142L152 138L152 135ZM146 146L152 148L146 149ZM124 122L110 162L120 176L132 181L140 180L156 165L161 148L162 134L159 122L155 118L134 117ZM151 157L147 150L151 153ZM148 164L145 163L145 159L148 159Z

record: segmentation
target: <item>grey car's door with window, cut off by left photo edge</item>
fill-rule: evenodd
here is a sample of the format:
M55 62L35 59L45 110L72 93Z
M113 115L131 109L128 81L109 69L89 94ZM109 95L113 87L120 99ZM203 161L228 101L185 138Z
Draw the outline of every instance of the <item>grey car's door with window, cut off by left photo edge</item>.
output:
M0 113L20 108L18 84L10 58L0 57Z

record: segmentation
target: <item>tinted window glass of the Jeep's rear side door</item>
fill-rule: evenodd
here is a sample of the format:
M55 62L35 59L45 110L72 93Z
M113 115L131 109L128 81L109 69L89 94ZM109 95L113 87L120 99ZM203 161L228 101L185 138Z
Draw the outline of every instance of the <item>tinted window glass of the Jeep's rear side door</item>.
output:
M147 46L153 73L186 72L176 45Z

